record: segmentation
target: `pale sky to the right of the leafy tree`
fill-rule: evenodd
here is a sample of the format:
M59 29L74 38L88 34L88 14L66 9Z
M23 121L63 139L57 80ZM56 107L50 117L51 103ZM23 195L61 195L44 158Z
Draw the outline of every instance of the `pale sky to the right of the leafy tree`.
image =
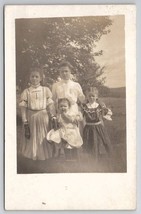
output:
M106 82L108 87L125 86L125 37L124 16L111 16L113 24L111 32L104 35L97 44L96 50L103 50L103 56L96 57L100 65L105 65Z

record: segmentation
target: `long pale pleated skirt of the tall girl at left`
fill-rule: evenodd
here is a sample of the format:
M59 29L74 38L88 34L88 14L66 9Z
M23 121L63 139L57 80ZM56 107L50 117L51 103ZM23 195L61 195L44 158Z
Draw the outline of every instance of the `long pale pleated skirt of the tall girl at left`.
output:
M21 142L21 153L23 156L33 160L45 160L52 157L52 145L46 140L49 127L49 117L46 110L28 110L28 121L30 127L30 139L23 136Z

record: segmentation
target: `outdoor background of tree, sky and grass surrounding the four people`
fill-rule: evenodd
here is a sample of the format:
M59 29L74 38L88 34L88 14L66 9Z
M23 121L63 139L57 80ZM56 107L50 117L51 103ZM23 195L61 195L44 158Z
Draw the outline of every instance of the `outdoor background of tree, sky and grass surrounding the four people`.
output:
M98 87L100 99L113 112L113 120L105 121L113 148L111 169L104 162L98 167L91 162L86 165L84 157L78 164L35 162L18 155L17 172L126 172L125 17L16 19L15 25L17 151L22 140L18 103L22 90L29 86L29 70L33 66L44 70L42 83L51 89L59 78L60 61L69 61L73 80L81 84L83 91L87 86Z

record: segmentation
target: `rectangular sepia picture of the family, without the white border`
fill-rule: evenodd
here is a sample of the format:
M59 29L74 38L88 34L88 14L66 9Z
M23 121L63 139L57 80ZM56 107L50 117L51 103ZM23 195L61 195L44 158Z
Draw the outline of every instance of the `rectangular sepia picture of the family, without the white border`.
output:
M17 173L126 172L124 15L15 27Z

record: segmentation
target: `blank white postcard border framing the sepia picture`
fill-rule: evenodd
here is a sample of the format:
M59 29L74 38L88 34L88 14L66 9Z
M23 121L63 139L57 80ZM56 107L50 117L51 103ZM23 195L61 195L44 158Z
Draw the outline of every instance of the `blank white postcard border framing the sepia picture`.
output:
M125 15L127 173L16 173L15 18ZM5 207L7 210L130 210L136 207L136 16L133 5L5 8Z

